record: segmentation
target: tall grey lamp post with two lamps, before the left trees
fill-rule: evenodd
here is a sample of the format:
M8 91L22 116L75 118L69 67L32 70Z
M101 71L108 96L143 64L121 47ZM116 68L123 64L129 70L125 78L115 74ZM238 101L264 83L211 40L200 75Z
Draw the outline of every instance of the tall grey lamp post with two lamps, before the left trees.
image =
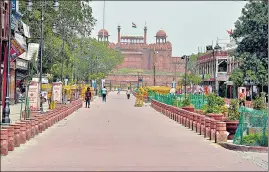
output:
M39 59L39 88L40 88L40 112L43 112L43 103L42 103L42 60L43 60L43 49L44 49L44 5L45 0L41 1L41 39L40 39L40 59ZM27 0L26 3L27 10L32 11L33 3L31 0ZM55 11L59 10L59 2L54 0L53 8Z

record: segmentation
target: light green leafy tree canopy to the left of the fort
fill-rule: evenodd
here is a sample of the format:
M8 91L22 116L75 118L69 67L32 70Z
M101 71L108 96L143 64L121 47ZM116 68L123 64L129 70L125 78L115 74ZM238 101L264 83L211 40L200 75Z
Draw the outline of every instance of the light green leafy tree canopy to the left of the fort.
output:
M120 52L108 48L106 43L90 37L96 20L87 1L59 1L58 11L53 1L43 3L44 49L43 73L71 82L105 77L122 60ZM32 38L28 42L40 42L42 1L33 1L33 10L26 10L26 2L20 2L22 20L30 26ZM54 29L53 29L54 28Z

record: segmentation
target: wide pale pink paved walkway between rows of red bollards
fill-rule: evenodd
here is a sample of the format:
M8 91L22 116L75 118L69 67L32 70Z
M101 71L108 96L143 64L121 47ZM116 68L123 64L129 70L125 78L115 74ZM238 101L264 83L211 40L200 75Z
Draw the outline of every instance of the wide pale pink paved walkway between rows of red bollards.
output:
M268 159L259 157L226 150L111 93L2 157L1 170L266 171Z

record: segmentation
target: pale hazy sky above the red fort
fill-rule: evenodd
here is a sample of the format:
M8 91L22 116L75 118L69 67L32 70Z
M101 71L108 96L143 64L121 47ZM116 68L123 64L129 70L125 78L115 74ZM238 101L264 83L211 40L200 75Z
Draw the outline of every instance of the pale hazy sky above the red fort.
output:
M173 56L197 53L198 46L228 39L226 30L233 29L246 2L243 1L106 1L105 29L110 42L117 42L117 26L121 35L143 36L148 27L147 42L154 43L156 32L163 29L173 46ZM92 1L97 19L92 36L103 28L104 1ZM132 22L137 28L132 28Z

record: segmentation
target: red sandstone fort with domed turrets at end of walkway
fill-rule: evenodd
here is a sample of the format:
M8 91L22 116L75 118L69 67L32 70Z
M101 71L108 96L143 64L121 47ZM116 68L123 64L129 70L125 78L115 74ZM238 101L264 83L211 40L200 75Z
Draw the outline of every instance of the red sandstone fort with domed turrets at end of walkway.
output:
M109 33L105 29L98 32L98 41L109 42ZM144 27L144 36L121 35L121 27L118 26L117 43L109 42L109 47L119 50L124 55L124 61L118 66L118 70L141 69L152 71L154 57L156 59L156 85L167 85L179 79L176 73L184 73L184 61L180 57L172 57L172 44L167 41L167 34L164 30L159 30L155 43L147 43L147 27ZM154 55L155 54L155 55ZM176 64L177 63L177 64ZM153 74L140 73L145 85L153 85ZM135 82L137 83L138 73L117 74L112 73L106 81L113 83Z

